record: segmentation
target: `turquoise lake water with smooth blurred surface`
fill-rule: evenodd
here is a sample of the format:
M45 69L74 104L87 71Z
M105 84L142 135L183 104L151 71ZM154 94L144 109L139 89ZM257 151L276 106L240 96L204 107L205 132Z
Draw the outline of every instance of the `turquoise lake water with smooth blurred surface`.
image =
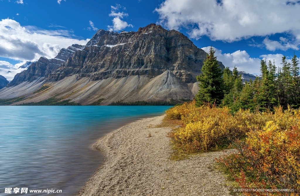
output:
M91 146L106 133L170 106L0 106L0 195L5 188L76 195L102 163ZM13 189L12 189L12 194ZM23 193L22 193L23 194ZM15 195L15 194L14 194Z

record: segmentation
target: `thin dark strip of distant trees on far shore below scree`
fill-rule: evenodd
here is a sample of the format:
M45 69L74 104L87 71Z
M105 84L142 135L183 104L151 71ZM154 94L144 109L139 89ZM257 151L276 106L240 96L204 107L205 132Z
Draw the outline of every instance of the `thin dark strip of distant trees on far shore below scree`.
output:
M170 101L114 101L108 104L108 106L175 106L177 103L178 101L175 101L173 99L170 99Z

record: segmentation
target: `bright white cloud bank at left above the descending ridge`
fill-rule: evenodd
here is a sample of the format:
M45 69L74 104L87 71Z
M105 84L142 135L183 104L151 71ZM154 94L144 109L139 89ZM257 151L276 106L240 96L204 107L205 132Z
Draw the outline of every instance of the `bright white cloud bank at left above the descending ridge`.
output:
M52 31L34 26L21 26L11 19L0 21L0 57L20 61L36 61L41 56L55 57L61 48L85 45L88 40L70 38L66 30Z

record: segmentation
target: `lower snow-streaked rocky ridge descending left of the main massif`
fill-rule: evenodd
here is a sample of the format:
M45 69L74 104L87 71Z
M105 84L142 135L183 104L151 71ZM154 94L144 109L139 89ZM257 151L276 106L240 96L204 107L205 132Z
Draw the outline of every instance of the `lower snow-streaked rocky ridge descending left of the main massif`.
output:
M25 81L34 81L41 77L48 77L48 75L58 69L69 57L72 57L77 50L82 50L84 46L73 44L67 49L62 48L58 55L53 59L41 57L38 61L31 63L28 69L16 74L13 80L8 84L8 87L16 86Z

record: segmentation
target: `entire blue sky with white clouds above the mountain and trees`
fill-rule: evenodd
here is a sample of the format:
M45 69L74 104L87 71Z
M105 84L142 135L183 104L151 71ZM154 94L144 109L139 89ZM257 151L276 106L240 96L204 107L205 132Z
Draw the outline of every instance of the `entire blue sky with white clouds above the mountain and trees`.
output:
M85 44L97 29L137 31L150 23L176 29L218 60L259 74L261 59L300 57L300 2L280 0L0 0L0 68L53 58ZM0 73L1 74L1 73Z

